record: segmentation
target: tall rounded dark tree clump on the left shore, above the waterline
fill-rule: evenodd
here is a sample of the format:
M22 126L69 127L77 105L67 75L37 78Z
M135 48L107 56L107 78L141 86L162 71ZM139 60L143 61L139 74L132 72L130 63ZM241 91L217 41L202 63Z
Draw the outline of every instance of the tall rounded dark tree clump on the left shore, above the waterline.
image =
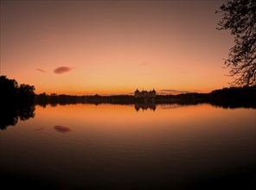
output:
M0 101L2 104L33 103L35 98L35 86L18 85L16 79L8 79L0 76Z

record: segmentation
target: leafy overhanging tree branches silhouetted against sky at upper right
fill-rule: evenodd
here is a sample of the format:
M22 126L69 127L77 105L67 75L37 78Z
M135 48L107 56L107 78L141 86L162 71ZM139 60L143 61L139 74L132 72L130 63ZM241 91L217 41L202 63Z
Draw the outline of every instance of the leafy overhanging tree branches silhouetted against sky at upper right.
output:
M234 77L232 85L256 85L256 1L229 0L216 13L222 13L220 30L230 29L234 47L225 65Z

